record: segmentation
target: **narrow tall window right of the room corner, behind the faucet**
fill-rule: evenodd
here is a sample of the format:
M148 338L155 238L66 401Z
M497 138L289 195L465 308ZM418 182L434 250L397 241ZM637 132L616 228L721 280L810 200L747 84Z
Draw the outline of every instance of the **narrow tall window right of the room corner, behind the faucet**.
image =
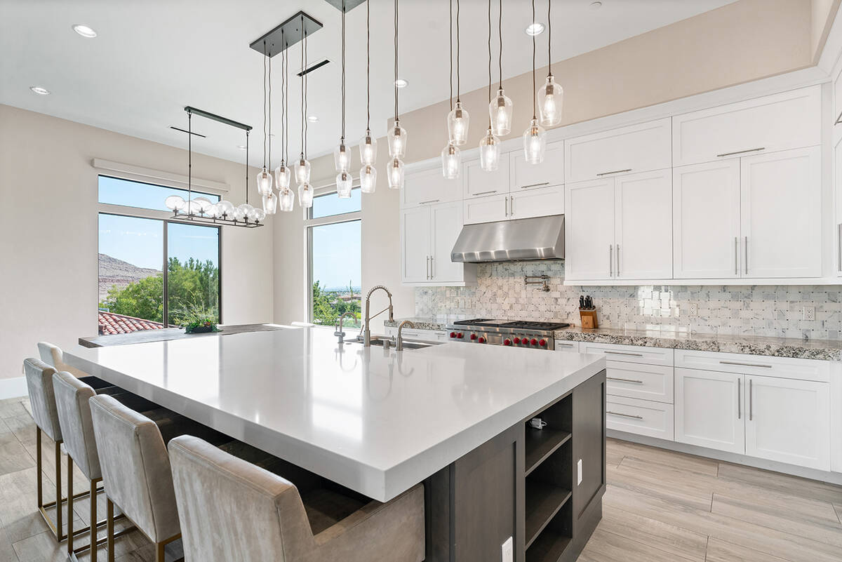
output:
M335 192L318 195L306 220L310 294L309 321L334 326L346 312L343 325L360 325L362 278L360 189L350 199Z

